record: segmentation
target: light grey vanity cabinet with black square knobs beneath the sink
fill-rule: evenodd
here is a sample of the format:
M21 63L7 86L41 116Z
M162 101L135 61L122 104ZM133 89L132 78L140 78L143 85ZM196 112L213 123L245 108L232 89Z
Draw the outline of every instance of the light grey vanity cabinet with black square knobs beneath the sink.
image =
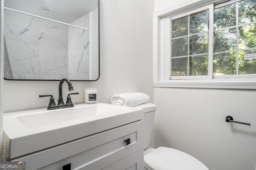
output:
M139 120L11 161L25 161L27 170L143 170L143 156Z

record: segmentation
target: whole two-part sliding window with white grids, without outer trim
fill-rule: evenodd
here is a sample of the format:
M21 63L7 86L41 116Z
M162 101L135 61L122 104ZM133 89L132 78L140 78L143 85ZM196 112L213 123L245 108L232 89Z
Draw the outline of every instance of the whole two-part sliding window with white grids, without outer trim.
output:
M255 0L171 14L165 23L165 76L170 81L256 78Z

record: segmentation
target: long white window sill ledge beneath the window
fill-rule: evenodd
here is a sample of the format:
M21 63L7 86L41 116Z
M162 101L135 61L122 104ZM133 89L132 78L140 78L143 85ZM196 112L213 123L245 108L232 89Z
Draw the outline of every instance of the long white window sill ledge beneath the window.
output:
M168 80L154 82L154 87L256 89L256 78Z

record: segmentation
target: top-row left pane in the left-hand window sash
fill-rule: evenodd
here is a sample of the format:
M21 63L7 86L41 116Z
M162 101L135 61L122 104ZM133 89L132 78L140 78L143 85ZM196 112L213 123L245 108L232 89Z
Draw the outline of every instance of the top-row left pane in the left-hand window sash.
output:
M188 35L188 16L172 20L172 38Z

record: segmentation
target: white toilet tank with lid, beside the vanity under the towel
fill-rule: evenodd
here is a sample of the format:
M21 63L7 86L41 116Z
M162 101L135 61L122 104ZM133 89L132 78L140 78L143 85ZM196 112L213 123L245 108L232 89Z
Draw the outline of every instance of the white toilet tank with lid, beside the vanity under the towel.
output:
M144 111L144 149L150 145L151 133L154 125L154 115L156 111L156 105L152 103L141 104L134 106L136 108L143 109Z

